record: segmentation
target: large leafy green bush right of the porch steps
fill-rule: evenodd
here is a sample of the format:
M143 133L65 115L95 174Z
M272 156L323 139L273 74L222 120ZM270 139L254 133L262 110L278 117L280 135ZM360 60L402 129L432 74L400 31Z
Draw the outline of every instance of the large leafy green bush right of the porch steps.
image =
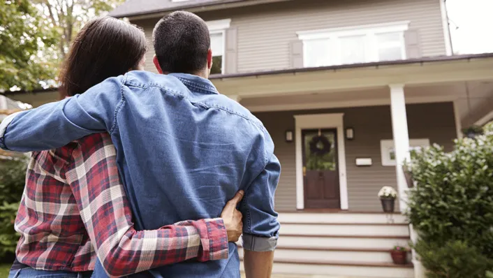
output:
M411 163L406 165L416 182L409 191L406 214L420 235L416 251L430 270L429 277L485 277L483 270L492 269L486 263L484 268L475 267L483 271L482 275L455 273L458 268L476 265L471 258L478 258L477 263L485 263L480 259L483 257L487 261L493 259L491 131L493 125L485 129L484 135L456 140L450 153L438 145L413 153ZM426 247L431 248L429 253ZM454 256L446 256L447 253ZM436 265L444 270L433 272L438 269Z

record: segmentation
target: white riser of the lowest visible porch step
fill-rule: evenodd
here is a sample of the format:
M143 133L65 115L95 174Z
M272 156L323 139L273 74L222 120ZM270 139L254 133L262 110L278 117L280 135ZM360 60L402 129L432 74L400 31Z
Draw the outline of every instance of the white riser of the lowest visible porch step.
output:
M243 262L240 270L244 270ZM378 278L413 278L412 268L380 268L344 265L304 265L293 263L274 263L273 273L300 274L300 275L327 275L349 277L378 277ZM323 276L322 276L323 277Z

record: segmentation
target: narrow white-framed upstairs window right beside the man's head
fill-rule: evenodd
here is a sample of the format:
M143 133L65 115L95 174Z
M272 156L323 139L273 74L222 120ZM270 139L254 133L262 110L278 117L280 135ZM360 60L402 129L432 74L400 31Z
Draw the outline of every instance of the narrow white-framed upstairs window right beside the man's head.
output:
M226 48L225 34L226 29L230 27L231 20L213 20L206 23L211 36L211 74L222 74L224 73L224 52Z

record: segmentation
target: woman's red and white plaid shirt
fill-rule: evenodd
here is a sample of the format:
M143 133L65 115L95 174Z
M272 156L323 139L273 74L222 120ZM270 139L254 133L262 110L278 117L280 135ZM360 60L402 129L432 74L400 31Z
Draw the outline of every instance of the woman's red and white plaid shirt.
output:
M107 133L32 154L15 230L17 260L43 270L93 270L97 255L118 277L189 258L228 258L222 219L135 231Z

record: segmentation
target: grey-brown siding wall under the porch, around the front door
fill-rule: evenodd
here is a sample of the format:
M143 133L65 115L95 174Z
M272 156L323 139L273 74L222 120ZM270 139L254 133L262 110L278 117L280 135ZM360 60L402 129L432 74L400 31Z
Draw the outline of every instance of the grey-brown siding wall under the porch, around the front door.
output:
M457 135L452 103L413 104L406 109L410 138L429 138L432 144L443 145L447 151L452 149L452 140ZM380 140L392 139L390 106L258 112L255 115L270 132L282 166L275 199L277 210L296 210L295 142L284 140L286 130L295 130L293 116L338 112L344 113L345 128L352 127L355 132L355 139L345 142L349 210L381 211L378 190L382 186L397 186L395 167L382 166L380 153ZM358 167L357 157L369 157L373 165Z

